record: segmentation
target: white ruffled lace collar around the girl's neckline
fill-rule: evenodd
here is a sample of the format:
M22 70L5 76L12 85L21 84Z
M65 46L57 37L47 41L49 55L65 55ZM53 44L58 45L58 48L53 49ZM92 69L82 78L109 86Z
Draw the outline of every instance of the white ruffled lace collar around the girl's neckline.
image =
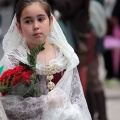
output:
M58 48L57 46L54 45L55 51L56 51L56 59L53 59L51 61L49 61L49 65L48 66L56 66L56 73L63 71L64 69L66 69L67 66L67 58L64 56L64 54L62 53L62 51L60 50L60 48ZM28 64L27 62L27 53L30 52L28 46L26 43L23 43L18 49L17 49L19 55L16 55L16 58L19 61L22 61L25 64ZM45 68L46 65L44 63L41 63L40 61L37 61L36 63L36 68L37 68L37 73L38 74L45 74L42 72L42 69Z

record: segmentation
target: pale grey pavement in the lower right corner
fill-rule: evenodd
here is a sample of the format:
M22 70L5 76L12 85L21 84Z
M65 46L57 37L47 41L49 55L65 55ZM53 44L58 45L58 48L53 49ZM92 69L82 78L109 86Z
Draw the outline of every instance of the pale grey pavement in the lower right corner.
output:
M120 120L120 85L104 86L108 120Z

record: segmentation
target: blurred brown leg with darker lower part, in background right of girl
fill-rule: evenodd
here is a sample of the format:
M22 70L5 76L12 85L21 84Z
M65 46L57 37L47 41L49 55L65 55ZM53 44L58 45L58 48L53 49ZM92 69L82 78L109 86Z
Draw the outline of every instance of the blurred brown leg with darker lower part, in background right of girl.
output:
M98 78L98 64L98 58L96 57L88 65L86 100L93 120L96 117L98 117L98 120L107 120L104 90Z

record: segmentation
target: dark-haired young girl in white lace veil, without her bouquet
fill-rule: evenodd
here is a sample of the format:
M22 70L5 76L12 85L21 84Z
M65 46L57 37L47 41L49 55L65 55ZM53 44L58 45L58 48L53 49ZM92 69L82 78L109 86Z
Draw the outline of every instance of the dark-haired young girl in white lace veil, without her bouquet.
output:
M16 15L3 39L4 57L0 66L14 68L27 63L27 53L45 42L37 56L41 96L6 95L1 102L9 120L91 120L83 95L78 57L66 41L50 6L43 0L19 0ZM47 79L49 70L53 79ZM43 70L44 69L44 70ZM51 86L48 86L52 82Z

